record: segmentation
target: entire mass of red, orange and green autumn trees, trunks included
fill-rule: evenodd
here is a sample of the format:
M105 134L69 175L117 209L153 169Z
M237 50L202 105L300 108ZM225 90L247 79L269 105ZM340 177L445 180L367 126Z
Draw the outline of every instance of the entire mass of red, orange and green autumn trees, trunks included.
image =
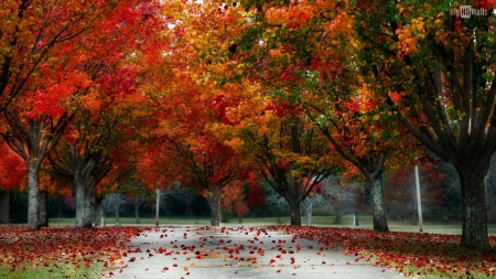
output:
M343 173L367 181L374 229L387 232L382 176L429 149L460 174L462 244L490 249L484 176L496 149L495 17L461 18L457 9L3 1L0 132L25 167L4 148L0 165L25 168L30 229L43 225L46 171L74 183L78 227L93 226L95 195L126 179L194 190L207 198L212 225L229 200L223 190L260 194L263 184L299 224L300 202ZM4 180L6 189L23 183Z

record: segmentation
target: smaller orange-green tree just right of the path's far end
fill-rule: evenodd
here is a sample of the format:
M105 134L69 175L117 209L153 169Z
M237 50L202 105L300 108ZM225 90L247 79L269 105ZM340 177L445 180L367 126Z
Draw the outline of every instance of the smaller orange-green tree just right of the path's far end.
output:
M284 104L272 104L265 111L269 120L258 125L248 119L239 133L260 178L288 202L291 224L301 225L301 202L337 167L320 130L289 112L296 108L287 106L283 110Z

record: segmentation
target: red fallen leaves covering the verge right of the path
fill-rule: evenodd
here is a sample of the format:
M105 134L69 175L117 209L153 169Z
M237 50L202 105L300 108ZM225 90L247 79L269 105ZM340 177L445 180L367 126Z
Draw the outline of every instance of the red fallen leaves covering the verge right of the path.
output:
M325 246L341 247L375 266L389 266L405 276L439 273L448 278L472 278L475 272L496 276L494 253L467 250L459 245L460 235L421 233L375 233L366 229L280 226L295 237L316 240ZM496 237L489 238L496 245ZM417 273L406 267L418 268Z

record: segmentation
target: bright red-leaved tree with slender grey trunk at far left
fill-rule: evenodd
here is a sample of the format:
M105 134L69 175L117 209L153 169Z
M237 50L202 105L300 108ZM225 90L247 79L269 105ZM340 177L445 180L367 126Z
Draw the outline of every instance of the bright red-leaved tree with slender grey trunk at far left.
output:
M30 229L36 228L34 223L37 223L35 219L39 215L36 200L40 164L79 108L78 100L87 106L95 104L95 99L93 99L95 94L90 87L101 76L101 73L106 73L107 68L112 68L116 62L122 60L126 54L130 54L131 49L125 50L129 44L122 43L126 41L118 41L122 37L129 40L130 34L142 34L137 30L132 32L123 32L123 30L130 28L133 23L132 20L136 21L137 18L138 21L143 20L144 22L151 18L149 9L142 9L144 6L132 1L122 1L119 4L106 2L84 3L83 7L82 4L66 3L66 6L52 8L41 4L39 9L35 9L37 6L28 6L28 10L33 9L36 13L44 12L48 17L43 19L45 17L43 14L40 22L32 24L40 24L43 28L46 24L53 25L55 30L42 28L34 29L36 30L34 34L25 32L28 37L34 36L37 40L33 40L34 44L28 44L28 53L31 52L30 55L43 58L36 61L29 72L19 74L23 78L28 76L28 79L9 79L11 83L9 88L17 88L14 90L17 98L9 100L11 105L4 109L7 124L10 126L4 132L4 138L11 142L10 146L18 153L24 157L31 173L29 175L30 200L32 201L29 214ZM129 9L133 6L138 8ZM23 14L23 12L20 13ZM30 20L37 18L31 17ZM67 21L63 20L64 18ZM76 21L73 22L74 20ZM29 26L26 22L19 24L24 23ZM57 28L60 31L55 32ZM119 28L120 31L116 32ZM54 32L53 37L48 31ZM67 33L69 31L72 33ZM103 37L105 40L100 40ZM106 41L107 37L115 41ZM17 40L14 36L12 43L18 42ZM129 40L129 42L137 41ZM116 49L116 46L120 49ZM12 63L9 65L19 66ZM22 66L28 65L30 64L25 63ZM3 72L3 74L6 73Z

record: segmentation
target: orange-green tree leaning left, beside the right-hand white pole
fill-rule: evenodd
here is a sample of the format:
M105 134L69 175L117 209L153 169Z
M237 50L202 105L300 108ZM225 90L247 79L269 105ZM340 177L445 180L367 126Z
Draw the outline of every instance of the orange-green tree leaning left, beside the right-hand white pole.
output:
M370 75L353 61L359 42L348 28L346 4L241 3L252 13L229 50L242 71L226 78L250 76L268 95L301 106L333 149L368 180L374 228L387 232L381 175L388 153L409 144L398 140L399 124L386 98L365 83Z

